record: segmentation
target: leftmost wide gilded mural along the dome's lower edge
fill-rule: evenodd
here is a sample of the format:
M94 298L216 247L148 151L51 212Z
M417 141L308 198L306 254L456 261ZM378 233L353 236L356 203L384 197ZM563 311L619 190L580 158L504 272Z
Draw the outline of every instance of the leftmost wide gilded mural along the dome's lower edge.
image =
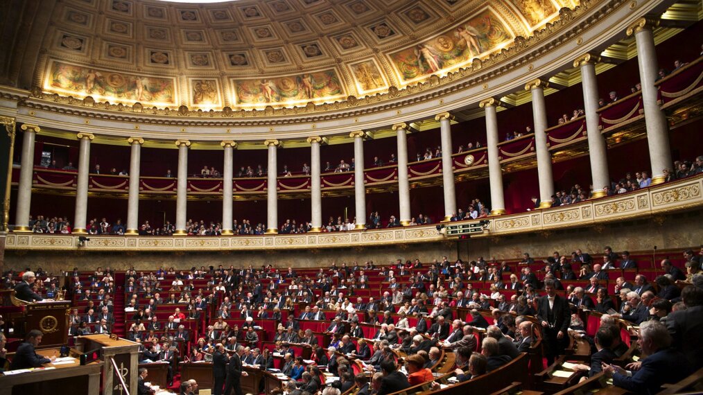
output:
M49 65L44 89L72 96L92 96L96 100L155 105L178 103L172 78L99 70L58 60L52 60Z

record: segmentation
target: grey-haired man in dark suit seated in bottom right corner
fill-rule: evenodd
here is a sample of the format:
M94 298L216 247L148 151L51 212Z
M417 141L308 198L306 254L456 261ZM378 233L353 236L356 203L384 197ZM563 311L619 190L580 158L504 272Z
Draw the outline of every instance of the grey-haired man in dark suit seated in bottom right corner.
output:
M686 357L670 348L671 335L658 320L640 325L638 344L647 354L639 370L628 372L615 365L602 364L606 377L612 377L616 387L638 394L656 394L663 384L679 382L693 373Z

